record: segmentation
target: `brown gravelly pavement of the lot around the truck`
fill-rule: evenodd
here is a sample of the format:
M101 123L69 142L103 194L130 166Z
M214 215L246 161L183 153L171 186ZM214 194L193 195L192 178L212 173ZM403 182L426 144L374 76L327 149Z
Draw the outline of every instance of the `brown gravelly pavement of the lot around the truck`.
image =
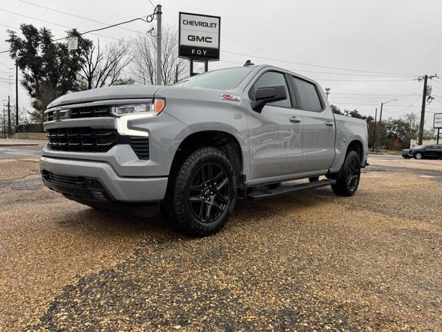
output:
M442 330L440 160L240 201L205 239L70 202L36 160L0 162L0 331Z

